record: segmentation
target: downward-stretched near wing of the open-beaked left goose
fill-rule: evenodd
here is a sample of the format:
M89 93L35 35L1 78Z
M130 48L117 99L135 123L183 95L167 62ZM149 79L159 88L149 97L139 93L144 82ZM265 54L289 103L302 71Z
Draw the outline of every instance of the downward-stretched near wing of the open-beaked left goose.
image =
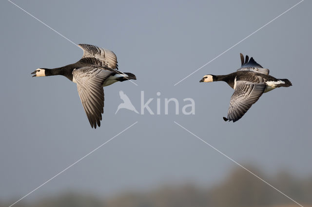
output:
M73 71L78 94L91 127L97 128L102 120L104 107L103 82L113 72L105 69L83 67Z

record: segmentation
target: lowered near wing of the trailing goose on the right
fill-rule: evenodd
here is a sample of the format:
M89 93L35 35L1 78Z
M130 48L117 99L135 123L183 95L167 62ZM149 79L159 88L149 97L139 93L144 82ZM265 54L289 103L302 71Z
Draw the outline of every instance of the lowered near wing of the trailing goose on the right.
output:
M266 88L265 84L253 84L237 81L235 91L231 97L228 118L225 121L237 121L260 98Z

